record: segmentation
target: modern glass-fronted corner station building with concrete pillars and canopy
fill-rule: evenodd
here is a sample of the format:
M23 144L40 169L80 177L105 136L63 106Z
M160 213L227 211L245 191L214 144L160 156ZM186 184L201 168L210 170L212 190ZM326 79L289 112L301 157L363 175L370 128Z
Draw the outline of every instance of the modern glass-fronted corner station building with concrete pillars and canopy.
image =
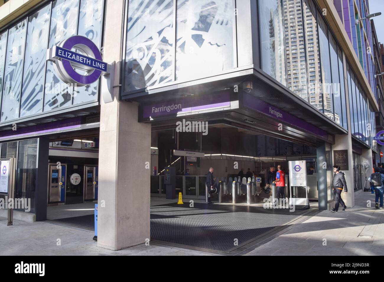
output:
M319 209L333 200L334 164L360 193L377 153L369 12L367 0L3 3L0 151L17 161L15 197L32 201L15 218L98 201L98 245L140 244L169 166L190 199L205 197L210 167L265 181L289 160L315 167ZM77 61L57 59L63 50ZM183 120L207 131L180 131Z

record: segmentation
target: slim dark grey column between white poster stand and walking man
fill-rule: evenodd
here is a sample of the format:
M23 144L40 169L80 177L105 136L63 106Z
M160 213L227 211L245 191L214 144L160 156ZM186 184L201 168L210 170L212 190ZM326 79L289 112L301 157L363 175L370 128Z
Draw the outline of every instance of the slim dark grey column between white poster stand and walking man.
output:
M319 209L327 209L327 168L325 158L325 142L319 142L316 148L317 157L317 181L318 181L318 199Z

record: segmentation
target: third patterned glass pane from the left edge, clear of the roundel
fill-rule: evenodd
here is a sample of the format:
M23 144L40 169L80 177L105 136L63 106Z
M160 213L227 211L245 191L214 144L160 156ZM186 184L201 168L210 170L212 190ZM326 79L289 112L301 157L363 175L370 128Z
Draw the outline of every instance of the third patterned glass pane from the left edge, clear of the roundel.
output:
M20 117L43 110L46 48L51 5L28 18Z

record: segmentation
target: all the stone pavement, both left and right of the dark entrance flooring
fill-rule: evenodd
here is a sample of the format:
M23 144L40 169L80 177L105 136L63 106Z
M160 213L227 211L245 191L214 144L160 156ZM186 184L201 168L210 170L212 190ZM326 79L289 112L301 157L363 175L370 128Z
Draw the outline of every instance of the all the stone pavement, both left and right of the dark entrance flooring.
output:
M367 207L367 200L372 207ZM356 205L338 213L319 211L258 242L248 256L344 256L384 254L384 209L375 209L374 194L355 194ZM124 250L97 247L93 231L65 226L52 221L29 223L0 217L0 255L137 255L207 256L194 251L150 242ZM60 242L60 244L59 244Z

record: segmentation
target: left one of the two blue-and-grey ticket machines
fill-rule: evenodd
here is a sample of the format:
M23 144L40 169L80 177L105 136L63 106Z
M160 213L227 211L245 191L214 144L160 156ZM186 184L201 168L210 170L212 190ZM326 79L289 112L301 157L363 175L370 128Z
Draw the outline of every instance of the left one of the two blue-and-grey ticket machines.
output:
M66 165L49 165L48 204L65 203L65 172Z

